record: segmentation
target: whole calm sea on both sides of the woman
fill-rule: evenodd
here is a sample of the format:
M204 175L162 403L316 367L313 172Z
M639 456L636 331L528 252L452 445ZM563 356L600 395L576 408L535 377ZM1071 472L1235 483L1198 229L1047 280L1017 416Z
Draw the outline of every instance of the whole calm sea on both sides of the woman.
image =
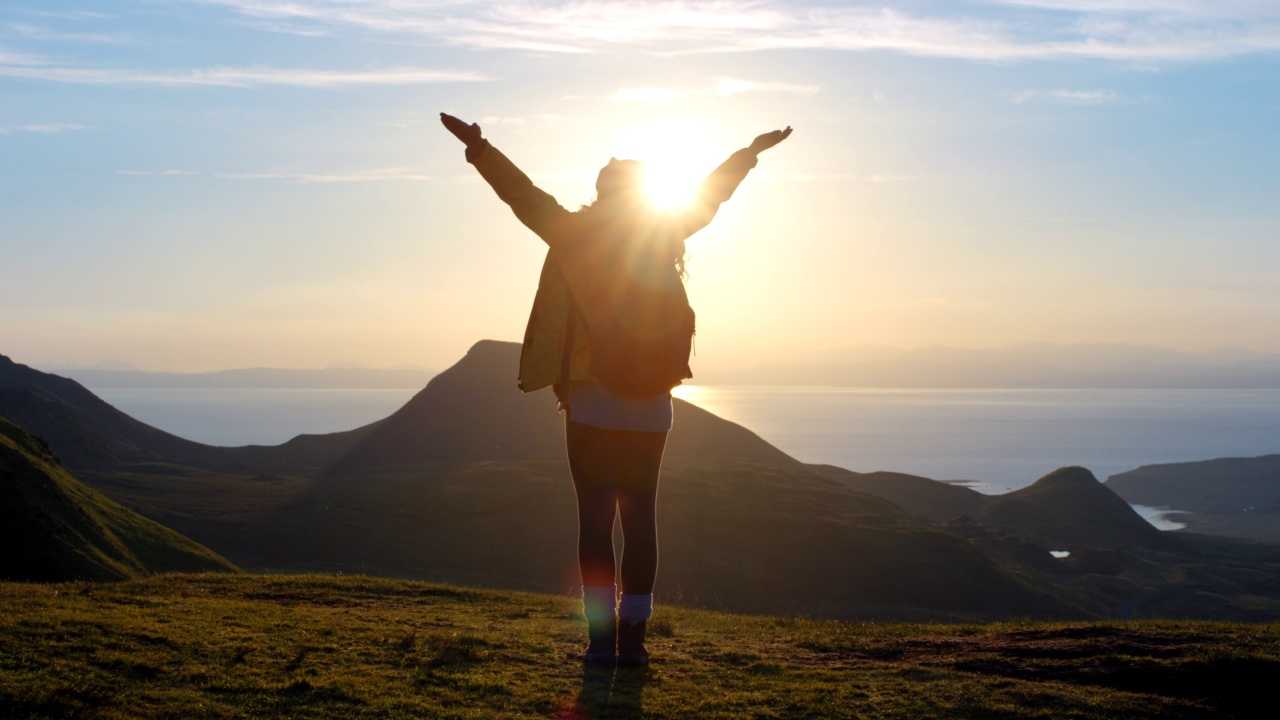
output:
M99 389L210 445L275 445L385 418L415 389ZM881 389L690 386L681 397L805 462L1030 484L1064 465L1098 479L1152 462L1280 452L1280 391ZM1155 511L1146 510L1148 516Z

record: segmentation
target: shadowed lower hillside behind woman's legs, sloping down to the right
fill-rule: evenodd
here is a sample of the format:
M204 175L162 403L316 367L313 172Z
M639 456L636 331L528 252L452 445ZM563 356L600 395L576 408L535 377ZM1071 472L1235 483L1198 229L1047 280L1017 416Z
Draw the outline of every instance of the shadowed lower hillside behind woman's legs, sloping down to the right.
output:
M315 482L141 474L100 482L252 570L540 592L577 584L563 462L419 464ZM166 484L174 489L159 492ZM663 470L658 515L657 592L701 607L931 620L1105 611L1056 597L1043 578L804 470L673 460Z

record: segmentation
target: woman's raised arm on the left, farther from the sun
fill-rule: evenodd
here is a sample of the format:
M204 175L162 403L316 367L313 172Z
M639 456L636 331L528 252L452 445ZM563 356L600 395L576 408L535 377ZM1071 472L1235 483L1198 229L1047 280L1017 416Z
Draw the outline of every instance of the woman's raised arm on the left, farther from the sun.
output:
M554 243L563 232L564 222L570 213L556 201L554 197L543 192L498 151L489 145L476 123L466 123L453 115L440 113L440 123L444 129L453 133L467 146L467 161L475 165L480 177L489 183L489 187L498 193L498 197L511 206L516 218L529 229L538 233L548 245Z

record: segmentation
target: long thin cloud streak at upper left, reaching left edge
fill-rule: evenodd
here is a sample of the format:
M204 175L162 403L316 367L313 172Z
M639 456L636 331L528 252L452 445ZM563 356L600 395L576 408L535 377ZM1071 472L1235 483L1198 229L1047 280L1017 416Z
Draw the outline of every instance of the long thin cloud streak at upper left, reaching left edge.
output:
M311 68L132 70L4 64L0 64L0 77L76 85L151 85L173 87L344 87L369 85L434 85L442 82L480 82L490 79L480 73L470 70L435 70L425 68L385 68L370 70L324 70Z

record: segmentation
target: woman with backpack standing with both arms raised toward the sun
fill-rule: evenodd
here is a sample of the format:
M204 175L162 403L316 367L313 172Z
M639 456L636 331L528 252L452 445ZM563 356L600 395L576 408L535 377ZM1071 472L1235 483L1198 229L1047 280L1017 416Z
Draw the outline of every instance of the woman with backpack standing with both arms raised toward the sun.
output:
M685 238L733 195L756 155L791 135L764 133L703 181L684 209L660 211L643 188L644 167L609 159L596 199L576 213L530 182L489 145L480 126L440 113L503 202L549 250L520 357L520 388L556 388L577 491L577 562L590 665L645 666L645 621L658 570L654 503L671 429L671 388L689 370L694 313L684 286ZM625 547L622 597L613 521ZM621 618L622 623L618 623Z

